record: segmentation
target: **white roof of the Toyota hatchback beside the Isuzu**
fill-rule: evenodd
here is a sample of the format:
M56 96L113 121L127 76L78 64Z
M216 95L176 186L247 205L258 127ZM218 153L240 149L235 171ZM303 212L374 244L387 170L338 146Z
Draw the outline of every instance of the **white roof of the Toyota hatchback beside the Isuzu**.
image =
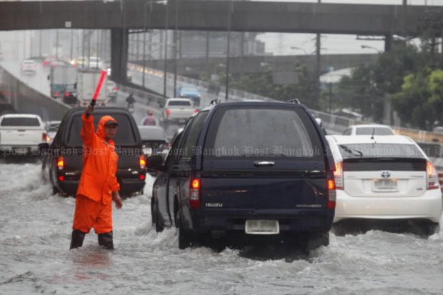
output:
M404 135L327 135L337 144L414 144L414 141Z

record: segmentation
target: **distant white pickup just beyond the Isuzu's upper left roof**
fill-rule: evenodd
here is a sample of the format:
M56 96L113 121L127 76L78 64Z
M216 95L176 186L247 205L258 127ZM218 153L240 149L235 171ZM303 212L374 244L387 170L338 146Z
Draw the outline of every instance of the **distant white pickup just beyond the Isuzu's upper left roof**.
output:
M197 111L191 99L168 99L164 104L164 125L184 124Z

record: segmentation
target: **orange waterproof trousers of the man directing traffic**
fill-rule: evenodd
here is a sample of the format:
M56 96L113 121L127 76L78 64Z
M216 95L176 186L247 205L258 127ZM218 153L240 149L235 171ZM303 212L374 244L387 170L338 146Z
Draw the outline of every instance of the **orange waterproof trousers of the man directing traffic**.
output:
M104 205L86 196L78 195L75 201L72 229L88 234L91 228L94 228L96 234L112 231L112 202Z

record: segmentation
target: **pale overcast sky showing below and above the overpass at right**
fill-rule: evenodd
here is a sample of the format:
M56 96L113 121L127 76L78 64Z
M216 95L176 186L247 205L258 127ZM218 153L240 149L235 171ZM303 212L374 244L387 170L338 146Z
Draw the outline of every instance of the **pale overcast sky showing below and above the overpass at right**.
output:
M316 3L318 0L275 1ZM402 5L403 0L322 0L322 3ZM443 0L407 0L407 4L443 6ZM315 51L315 34L265 33L257 39L264 41L266 52L273 55L314 54ZM384 41L357 40L356 35L322 34L321 43L322 54L374 54L384 51ZM362 49L362 45L373 48Z

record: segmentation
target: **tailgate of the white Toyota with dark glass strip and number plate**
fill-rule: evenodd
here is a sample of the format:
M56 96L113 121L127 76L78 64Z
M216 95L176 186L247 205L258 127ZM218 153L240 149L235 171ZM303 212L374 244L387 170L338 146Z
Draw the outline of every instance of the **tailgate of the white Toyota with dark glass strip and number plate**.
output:
M421 196L426 191L424 159L347 159L344 191L351 196Z

